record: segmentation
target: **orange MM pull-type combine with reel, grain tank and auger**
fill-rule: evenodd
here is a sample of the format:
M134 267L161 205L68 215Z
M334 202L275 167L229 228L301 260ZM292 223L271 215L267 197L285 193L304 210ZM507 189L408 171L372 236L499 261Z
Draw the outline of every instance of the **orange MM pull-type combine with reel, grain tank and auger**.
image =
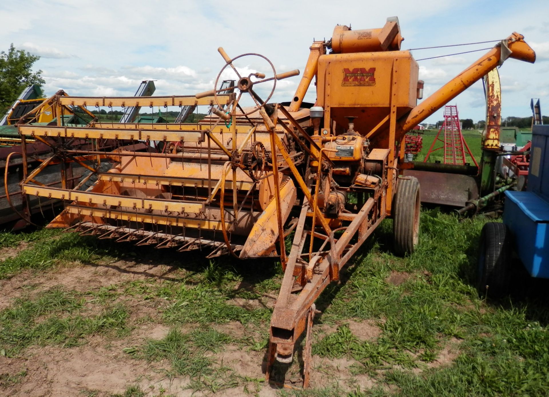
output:
M307 387L318 295L385 217L394 220L397 253L411 253L418 242L419 183L399 176L405 133L505 59L534 62L523 38L512 33L420 105L423 81L410 51L400 49L396 18L381 29L338 25L331 40L313 42L290 103L268 101L278 80L299 70L277 74L262 55L231 58L219 48L226 64L214 87L232 68L238 80L231 87L193 97L56 98L60 106L84 108L208 105L211 113L198 124L21 125L23 144L32 137L53 147L43 166L58 161L63 171L78 163L92 171L87 178L97 178L86 191L82 181L74 188L69 182L41 186L34 183L41 166L23 170L21 187L27 196L65 200L49 227L182 252L201 249L208 258L279 257L284 277L271 320L267 378L275 360L292 361L306 332ZM240 75L234 61L246 56L267 61L268 73ZM311 107L302 101L313 79ZM257 86L265 82L272 90L264 100ZM244 94L255 106L241 107ZM95 149L75 150L74 139ZM106 151L106 139L156 150ZM101 171L108 169L104 163L111 164L108 171ZM290 217L293 210L299 216ZM291 231L287 253L284 237Z

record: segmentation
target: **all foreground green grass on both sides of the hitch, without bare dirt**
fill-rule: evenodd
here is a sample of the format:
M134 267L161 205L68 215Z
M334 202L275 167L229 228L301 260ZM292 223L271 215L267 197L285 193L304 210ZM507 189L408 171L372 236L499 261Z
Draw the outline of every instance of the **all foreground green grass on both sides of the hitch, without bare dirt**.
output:
M460 222L451 214L424 210L421 243L405 258L391 253L391 221L382 222L344 268L343 282L330 284L318 299L322 314L315 322L335 324L337 329L326 335L317 333L313 344L315 356L350 360L354 362L349 368L352 377L368 376L376 385L364 389L352 383L336 383L305 392L280 393L358 396L386 395L391 390L396 395L546 394L549 336L544 307L537 301L514 298L480 300L472 287L478 236L485 221L476 217ZM74 234L54 234L33 244L46 251L33 254L38 258L53 253L50 266L55 261L94 259L94 255L102 258L112 253L96 240ZM75 247L78 250L74 251ZM146 252L135 249L139 257ZM29 254L25 251L14 259L26 258ZM124 306L115 301L131 298L158 304L158 316L147 321L164 322L172 328L163 339L126 348L128 355L159 363L168 377L188 377L193 390L215 393L250 382L258 387L261 379L243 378L216 354L231 343L239 349L265 351L271 310L245 309L228 300L276 293L279 270L273 265L258 267L256 262L234 266L227 259L194 260L189 256L184 269L174 273L175 282L145 278L85 293L54 288L15 300L0 312L4 354L24 354L31 345L69 348L92 334L119 338L131 323ZM19 270L27 267L20 266ZM395 272L407 275L406 280L399 285L388 282ZM237 289L242 282L251 288ZM99 305L100 313L91 315L90 304ZM381 333L371 340L358 339L347 325L350 320L374 321ZM234 339L212 327L227 321L242 322L253 331ZM182 323L192 324L193 330L182 332ZM453 361L428 368L427 364L435 362L449 344L457 350Z

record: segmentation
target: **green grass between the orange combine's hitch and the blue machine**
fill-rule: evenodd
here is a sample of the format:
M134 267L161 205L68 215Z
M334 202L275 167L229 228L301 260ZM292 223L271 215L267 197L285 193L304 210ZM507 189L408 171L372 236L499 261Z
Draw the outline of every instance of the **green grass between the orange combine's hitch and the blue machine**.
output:
M371 250L346 269L345 285L336 293L328 291L320 302L329 303L320 321L374 318L382 333L363 342L343 325L313 344L313 352L358 361L363 368L355 366L355 373L391 385L395 395L546 395L545 304L512 297L484 301L471 286L484 222L477 217L460 223L453 215L424 212L422 243L406 258L386 251L390 224L384 222ZM394 286L386 281L390 272L411 277ZM453 362L419 374L410 371L425 368L451 341L458 346ZM386 393L385 388L368 390L368 395Z

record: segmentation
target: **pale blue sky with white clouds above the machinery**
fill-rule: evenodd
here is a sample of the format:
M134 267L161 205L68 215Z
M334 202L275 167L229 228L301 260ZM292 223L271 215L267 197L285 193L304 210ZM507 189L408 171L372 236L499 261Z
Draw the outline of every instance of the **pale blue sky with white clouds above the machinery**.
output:
M276 72L303 70L313 40L332 36L337 24L352 29L382 27L398 16L402 49L501 40L522 33L536 51L535 64L508 59L500 68L502 117L531 115L530 98L549 109L549 2L407 1L122 1L26 0L3 2L0 43L40 55L48 96L63 89L73 96L133 96L142 80L156 80L155 95L192 95L214 88L231 57L259 53ZM416 59L491 47L494 44L412 51ZM420 60L424 98L485 51ZM240 71L272 75L259 57L243 57ZM271 70L271 71L270 71ZM269 72L270 71L270 72ZM231 77L226 70L221 78ZM277 82L273 102L291 100L300 77ZM264 86L268 85L264 83ZM256 86L265 98L271 87ZM314 89L306 100L314 102ZM247 104L247 103L244 103ZM481 82L452 100L461 119L485 119ZM176 109L170 109L176 110ZM146 111L146 109L142 109ZM442 109L426 121L441 120Z

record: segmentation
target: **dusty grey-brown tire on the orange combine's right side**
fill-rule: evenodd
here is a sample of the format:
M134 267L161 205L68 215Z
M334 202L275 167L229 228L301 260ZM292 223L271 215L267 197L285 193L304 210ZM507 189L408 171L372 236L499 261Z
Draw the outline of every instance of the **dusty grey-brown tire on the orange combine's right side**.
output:
M420 210L419 181L413 176L399 178L393 205L393 238L396 254L411 254L416 248L419 241Z

